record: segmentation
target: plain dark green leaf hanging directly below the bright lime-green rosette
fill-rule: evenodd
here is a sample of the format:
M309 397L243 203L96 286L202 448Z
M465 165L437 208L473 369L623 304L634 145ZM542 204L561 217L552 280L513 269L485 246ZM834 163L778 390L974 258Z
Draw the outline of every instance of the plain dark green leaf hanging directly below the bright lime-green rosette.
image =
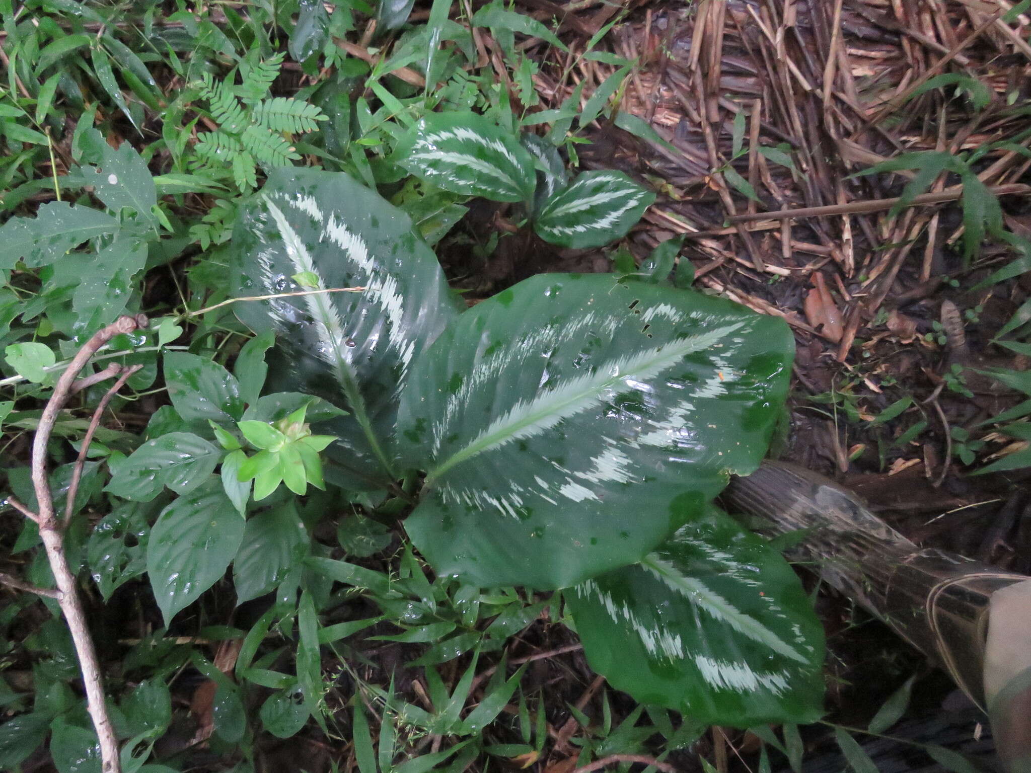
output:
M293 504L254 515L233 561L237 603L272 591L304 560L307 547L308 533Z

